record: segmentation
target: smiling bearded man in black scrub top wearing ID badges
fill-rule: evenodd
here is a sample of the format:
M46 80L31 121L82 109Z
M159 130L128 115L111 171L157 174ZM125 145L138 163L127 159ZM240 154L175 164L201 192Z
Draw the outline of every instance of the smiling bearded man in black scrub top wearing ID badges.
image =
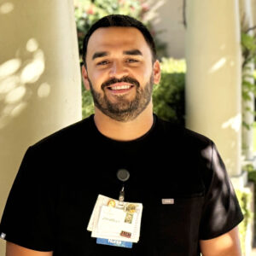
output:
M241 255L214 143L153 114L160 63L143 24L97 21L82 74L95 115L27 150L0 225L7 255Z

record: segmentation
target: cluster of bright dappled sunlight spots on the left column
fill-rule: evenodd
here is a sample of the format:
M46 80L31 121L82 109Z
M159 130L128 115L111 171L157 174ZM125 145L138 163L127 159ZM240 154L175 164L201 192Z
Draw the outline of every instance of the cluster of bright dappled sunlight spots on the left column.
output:
M17 57L0 65L0 129L26 108L32 96L30 85L44 73L44 52L39 49L37 40L30 38L26 49L21 50L26 50L30 55L26 61ZM38 97L49 96L49 93L49 84L38 86Z

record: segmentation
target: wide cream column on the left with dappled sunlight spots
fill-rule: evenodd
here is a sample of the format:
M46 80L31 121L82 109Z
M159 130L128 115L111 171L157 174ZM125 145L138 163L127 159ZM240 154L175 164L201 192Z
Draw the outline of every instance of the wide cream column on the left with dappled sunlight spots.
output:
M1 217L26 148L81 119L81 81L72 0L2 1L0 35Z

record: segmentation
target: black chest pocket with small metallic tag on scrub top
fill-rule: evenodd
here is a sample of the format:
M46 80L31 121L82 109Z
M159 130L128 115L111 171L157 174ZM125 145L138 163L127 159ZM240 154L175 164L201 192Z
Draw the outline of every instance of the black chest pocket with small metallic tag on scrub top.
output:
M203 195L161 195L158 198L155 239L160 255L167 255L167 252L173 255L197 255L203 201Z

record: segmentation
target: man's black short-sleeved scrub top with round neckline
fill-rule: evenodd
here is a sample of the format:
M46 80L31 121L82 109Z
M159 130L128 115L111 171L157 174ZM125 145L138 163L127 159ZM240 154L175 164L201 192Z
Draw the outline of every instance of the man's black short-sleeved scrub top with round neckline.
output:
M97 196L118 199L119 169L130 172L125 201L143 203L140 240L132 248L96 244L87 230ZM28 148L0 234L54 256L194 256L201 239L223 235L242 218L210 139L154 115L143 137L118 142L96 129L92 115Z

